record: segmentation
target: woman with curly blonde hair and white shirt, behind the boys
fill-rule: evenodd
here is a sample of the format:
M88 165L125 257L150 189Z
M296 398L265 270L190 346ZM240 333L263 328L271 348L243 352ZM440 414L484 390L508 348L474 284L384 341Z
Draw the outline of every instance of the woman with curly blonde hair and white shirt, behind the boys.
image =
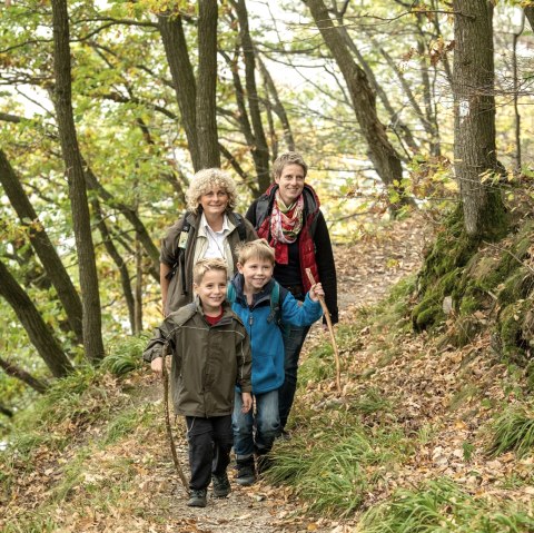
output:
M257 238L251 224L234 211L237 188L224 170L199 170L186 199L186 216L169 228L161 241L159 277L165 316L192 302L195 264L204 258L221 258L231 277L237 270L236 245Z

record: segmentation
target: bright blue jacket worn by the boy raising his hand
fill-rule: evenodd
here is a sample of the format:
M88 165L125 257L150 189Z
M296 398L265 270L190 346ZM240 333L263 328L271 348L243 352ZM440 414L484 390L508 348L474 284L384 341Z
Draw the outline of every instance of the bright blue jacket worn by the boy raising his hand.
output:
M273 316L270 297L275 286L271 279L260 293L254 295L253 305L243 294L244 277L236 274L230 282L236 297L231 309L245 324L253 352L253 394L276 391L284 383L284 340L280 325L309 326L323 316L318 302L309 294L300 305L291 293L280 286L279 319Z

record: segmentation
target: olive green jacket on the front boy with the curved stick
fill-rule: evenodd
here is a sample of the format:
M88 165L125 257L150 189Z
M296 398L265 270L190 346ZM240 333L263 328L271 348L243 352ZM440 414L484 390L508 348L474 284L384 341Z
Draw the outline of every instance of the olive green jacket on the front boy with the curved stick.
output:
M250 343L228 303L214 326L206 320L198 298L171 313L156 329L144 359L161 357L166 340L172 358L170 386L176 414L229 415L236 385L241 392L251 392Z

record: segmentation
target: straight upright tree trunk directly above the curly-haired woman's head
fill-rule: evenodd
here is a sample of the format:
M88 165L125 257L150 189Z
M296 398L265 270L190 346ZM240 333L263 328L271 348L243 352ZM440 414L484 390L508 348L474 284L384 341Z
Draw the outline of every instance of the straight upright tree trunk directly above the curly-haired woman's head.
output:
M197 139L200 168L220 167L217 137L217 0L198 2Z

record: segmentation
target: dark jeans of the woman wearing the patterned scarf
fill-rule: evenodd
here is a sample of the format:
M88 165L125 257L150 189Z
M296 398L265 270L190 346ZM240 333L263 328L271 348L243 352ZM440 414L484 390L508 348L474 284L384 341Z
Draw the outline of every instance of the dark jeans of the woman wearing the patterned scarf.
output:
M297 389L298 358L303 349L309 326L285 326L283 328L284 337L284 371L286 373L284 385L278 389L280 428L286 427L289 412L291 411L295 391Z

